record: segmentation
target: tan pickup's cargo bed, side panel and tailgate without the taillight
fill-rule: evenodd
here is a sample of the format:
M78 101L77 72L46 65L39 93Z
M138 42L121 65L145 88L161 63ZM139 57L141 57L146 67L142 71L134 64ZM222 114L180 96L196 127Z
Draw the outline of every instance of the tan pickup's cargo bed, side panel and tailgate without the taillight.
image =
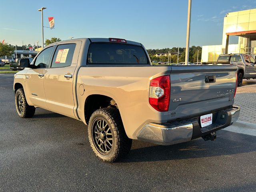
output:
M230 65L84 66L78 71L77 84L83 84L85 89L83 96L78 95L78 106L84 106L85 98L95 93L113 98L126 134L136 139L137 132L145 124L166 123L232 106L235 73L236 67ZM170 75L167 112L158 112L149 104L150 80L162 75ZM206 83L205 76L216 76L216 82ZM175 99L180 101L175 102ZM78 108L78 115L84 118L83 107Z

